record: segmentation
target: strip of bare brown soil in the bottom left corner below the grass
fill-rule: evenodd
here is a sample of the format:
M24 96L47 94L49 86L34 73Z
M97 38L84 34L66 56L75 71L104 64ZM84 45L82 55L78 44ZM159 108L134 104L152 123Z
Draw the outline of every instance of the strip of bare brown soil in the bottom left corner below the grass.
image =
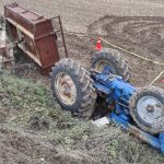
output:
M1 164L66 164L93 163L93 159L80 151L57 149L38 136L22 129L0 125Z

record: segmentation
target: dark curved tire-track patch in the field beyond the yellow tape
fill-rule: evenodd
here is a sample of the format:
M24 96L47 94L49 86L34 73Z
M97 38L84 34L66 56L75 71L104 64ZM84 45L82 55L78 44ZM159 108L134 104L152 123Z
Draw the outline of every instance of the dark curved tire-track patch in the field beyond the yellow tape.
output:
M104 16L89 25L89 34L118 39L122 46L164 60L164 17Z

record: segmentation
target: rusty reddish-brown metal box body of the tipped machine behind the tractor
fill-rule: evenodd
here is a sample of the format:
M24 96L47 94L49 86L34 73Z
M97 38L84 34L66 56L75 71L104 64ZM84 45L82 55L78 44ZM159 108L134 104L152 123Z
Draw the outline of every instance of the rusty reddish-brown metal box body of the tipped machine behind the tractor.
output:
M51 20L16 3L4 7L4 16L17 46L37 65L46 69L60 59Z

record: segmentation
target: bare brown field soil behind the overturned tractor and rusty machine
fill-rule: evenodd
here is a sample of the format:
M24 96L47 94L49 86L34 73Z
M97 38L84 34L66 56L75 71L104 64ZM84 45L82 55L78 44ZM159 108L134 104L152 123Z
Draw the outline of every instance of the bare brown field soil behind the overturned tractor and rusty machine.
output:
M1 0L1 9L8 2L11 1ZM17 0L17 2L46 16L60 14L69 57L81 60L86 67L90 66L90 59L95 54L98 36L129 51L164 62L164 3L162 1L117 0L113 2L108 0L97 2L98 5L95 1L72 0L67 2L49 0L48 3L43 0L33 2ZM68 34L69 31L83 33L85 37ZM90 37L92 35L95 37ZM109 47L109 45L103 43L103 47ZM61 57L65 57L62 47L59 48L59 52ZM131 82L137 86L150 84L164 69L163 66L153 65L124 51L122 54L129 60ZM30 72L27 77L42 79L39 73L35 75L35 71ZM164 87L161 82L163 79L164 75L154 85Z

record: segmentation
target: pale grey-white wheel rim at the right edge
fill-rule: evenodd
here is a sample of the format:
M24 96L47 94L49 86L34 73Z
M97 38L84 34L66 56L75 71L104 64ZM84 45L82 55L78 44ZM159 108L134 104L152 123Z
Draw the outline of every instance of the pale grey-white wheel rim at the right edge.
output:
M149 125L155 125L163 121L163 105L154 96L141 97L137 103L137 112L140 118Z

